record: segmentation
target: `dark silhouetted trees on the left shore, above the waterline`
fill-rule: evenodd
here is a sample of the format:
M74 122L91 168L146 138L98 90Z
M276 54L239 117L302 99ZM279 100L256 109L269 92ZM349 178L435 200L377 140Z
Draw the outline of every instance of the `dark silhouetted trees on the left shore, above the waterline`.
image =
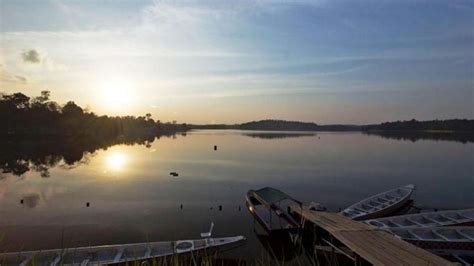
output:
M80 137L98 140L156 136L187 130L186 124L161 123L144 116L96 115L73 101L64 105L50 99L50 91L37 97L23 93L0 95L1 136Z

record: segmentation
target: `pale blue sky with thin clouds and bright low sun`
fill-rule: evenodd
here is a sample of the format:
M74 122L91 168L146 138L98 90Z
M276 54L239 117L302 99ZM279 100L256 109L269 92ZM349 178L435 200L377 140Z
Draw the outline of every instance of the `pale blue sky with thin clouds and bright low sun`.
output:
M208 124L474 118L474 2L0 0L0 91Z

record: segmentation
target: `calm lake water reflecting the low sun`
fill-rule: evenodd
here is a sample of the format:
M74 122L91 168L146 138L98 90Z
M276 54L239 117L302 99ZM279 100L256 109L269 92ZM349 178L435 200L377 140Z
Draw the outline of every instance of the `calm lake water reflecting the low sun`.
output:
M359 132L191 131L33 168L0 175L1 251L194 239L213 221L248 238L223 254L261 257L245 194L264 186L335 211L409 183L418 207L474 206L473 143Z

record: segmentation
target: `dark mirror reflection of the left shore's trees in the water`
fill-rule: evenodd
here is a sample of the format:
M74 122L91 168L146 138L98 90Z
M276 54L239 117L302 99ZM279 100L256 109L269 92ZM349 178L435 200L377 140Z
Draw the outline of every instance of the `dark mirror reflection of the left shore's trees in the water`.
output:
M167 135L173 136L173 135ZM185 136L185 134L183 134ZM119 137L114 140L95 138L66 138L55 140L5 140L0 139L0 171L3 174L21 176L28 171L38 172L41 177L50 176L49 169L60 167L73 169L87 164L96 151L113 145L144 145L160 136ZM0 175L0 179L5 175Z

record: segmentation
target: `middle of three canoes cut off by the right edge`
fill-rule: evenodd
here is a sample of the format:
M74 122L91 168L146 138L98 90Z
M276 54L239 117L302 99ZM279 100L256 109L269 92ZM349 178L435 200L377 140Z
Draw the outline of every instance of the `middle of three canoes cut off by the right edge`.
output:
M386 229L399 238L428 250L474 250L474 227L447 226Z

